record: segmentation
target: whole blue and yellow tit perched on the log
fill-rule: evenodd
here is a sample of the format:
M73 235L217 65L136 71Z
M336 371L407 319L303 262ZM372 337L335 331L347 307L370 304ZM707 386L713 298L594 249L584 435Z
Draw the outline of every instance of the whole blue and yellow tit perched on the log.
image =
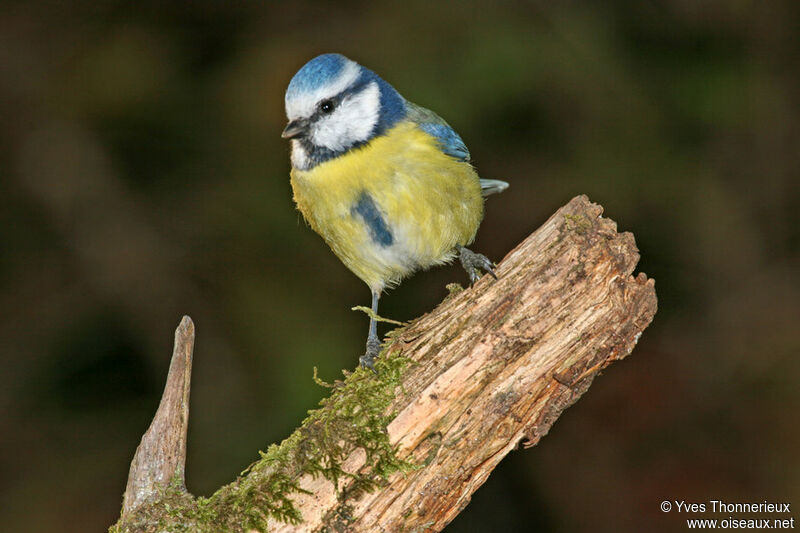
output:
M281 137L290 141L294 202L371 291L359 363L375 371L384 290L456 257L471 284L484 273L497 278L494 264L467 246L484 197L508 183L479 178L466 144L444 119L341 54L303 65L286 89L285 108Z

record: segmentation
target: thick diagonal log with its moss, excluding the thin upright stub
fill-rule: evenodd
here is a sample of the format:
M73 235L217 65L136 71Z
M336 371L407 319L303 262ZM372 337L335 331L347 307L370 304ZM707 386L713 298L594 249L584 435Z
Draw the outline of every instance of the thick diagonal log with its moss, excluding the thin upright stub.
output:
M377 377L359 369L332 385L249 472L210 498L161 489L112 529L440 531L652 320L653 280L631 276L633 236L601 213L574 198L506 256L497 281L390 334Z

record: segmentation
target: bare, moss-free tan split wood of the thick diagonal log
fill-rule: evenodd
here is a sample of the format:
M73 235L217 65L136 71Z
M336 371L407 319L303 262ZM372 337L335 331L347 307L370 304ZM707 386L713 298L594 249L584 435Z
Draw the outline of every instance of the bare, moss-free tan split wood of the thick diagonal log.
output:
M656 312L654 282L631 277L633 235L574 198L484 276L390 344L415 362L392 410L401 456L429 462L347 502L352 531L439 531L520 442L535 445L600 370L628 355ZM357 468L353 458L351 468ZM303 480L314 531L336 508L333 486ZM380 529L382 528L382 529Z

